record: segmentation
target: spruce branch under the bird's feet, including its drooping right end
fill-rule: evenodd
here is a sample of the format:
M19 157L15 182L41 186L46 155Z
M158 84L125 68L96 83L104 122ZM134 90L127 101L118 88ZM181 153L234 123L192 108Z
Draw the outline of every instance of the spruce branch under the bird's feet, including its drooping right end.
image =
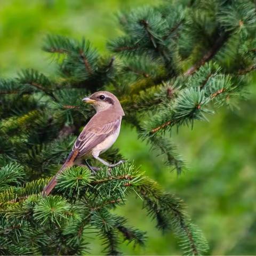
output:
M2 205L2 211L6 213L9 219L18 220L24 218L23 215L26 215L26 219L28 220L33 217L35 221L39 221L43 226L50 221L50 223L57 228L60 228L63 222L74 219L75 226L73 227L76 227L77 238L74 237L74 239L71 239L73 244L77 243L75 241L80 241L83 227L90 223L90 225L100 231L103 244L106 245L105 252L111 255L113 253L119 254L117 246L120 241L117 236L117 231L121 231L125 239L129 242L134 241L135 243L143 244L145 241L145 233L138 229L126 227L126 220L124 218L113 215L106 209L106 207L111 207L113 204L122 202L120 200L122 200L123 196L121 196L121 198L119 196L125 195L130 191L130 193L135 193L135 195L140 195L145 199L149 213L153 214L158 220L158 228L165 230L172 225L173 228L177 228L177 235L182 239L185 245L187 245L187 242L186 239L183 238L183 235L188 238L189 250L194 248L194 251L192 250L194 254L198 254L199 250L202 250L198 245L198 239L200 241L201 238L195 237L189 224L187 224L188 220L180 209L181 205L179 199L171 195L165 195L155 182L149 180L147 177L143 177L143 175L130 164L114 168L111 174L109 174L107 170L102 170L97 173L95 177L84 167L72 167L59 175L58 191L61 193L65 193L67 189L73 191L72 194L66 194L69 195L68 197L70 197L70 195L74 196L74 193L86 193L84 199L79 201L76 206L76 209L79 209L79 207L83 209L86 222L84 222L85 219L81 218L81 214L68 203L67 199L57 195L46 198L43 198L40 194L35 195L40 193L40 190L43 188L41 186L45 182L47 182L47 180L38 180L36 183L29 182L25 187L15 192L13 190L11 197L9 196L7 198L5 196L4 198L4 196L2 196L7 203ZM40 184L40 186L38 186L38 184ZM73 184L73 186L71 186L71 184ZM107 187L109 185L111 186L110 198L107 196L110 191ZM40 187L41 189L38 190ZM11 190L9 191L11 193ZM98 191L98 193L96 193L96 191ZM89 196L90 194L91 196ZM118 195L119 198L115 199L115 194ZM98 199L95 200L96 198ZM106 200L102 202L102 198L106 198ZM101 203L98 201L99 199ZM99 203L97 203L97 201ZM170 210L173 212L174 218L170 220L171 222L167 220ZM177 226L178 224L179 226ZM181 233L179 233L180 228L183 230ZM69 235L74 234L74 232L71 232L71 229L66 229L65 234L69 237Z

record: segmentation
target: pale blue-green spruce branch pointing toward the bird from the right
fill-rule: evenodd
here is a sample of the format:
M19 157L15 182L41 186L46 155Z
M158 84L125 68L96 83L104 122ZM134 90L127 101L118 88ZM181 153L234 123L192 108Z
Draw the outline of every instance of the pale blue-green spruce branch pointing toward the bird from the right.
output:
M174 125L193 125L195 120L206 120L204 114L213 114L212 110L206 108L212 101L215 107L220 107L224 103L228 104L230 98L242 97L241 81L221 74L220 67L211 63L199 68L185 83L185 89L180 90L173 104L159 106L160 113L145 123L143 138L150 138Z

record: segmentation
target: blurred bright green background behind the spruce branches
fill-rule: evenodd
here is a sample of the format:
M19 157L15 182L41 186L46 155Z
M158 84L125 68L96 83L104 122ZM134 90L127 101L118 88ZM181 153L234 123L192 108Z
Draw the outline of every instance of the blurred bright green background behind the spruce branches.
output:
M159 0L0 0L0 76L15 75L20 69L35 68L51 76L55 66L41 51L46 34L83 36L106 53L107 39L118 30L115 14ZM134 130L123 124L116 146L121 153L165 190L181 197L187 211L210 243L211 255L256 254L256 87L249 87L249 100L240 109L221 108L209 123L197 122L193 130L182 127L172 133L188 170L180 177L163 167L163 159L150 152ZM162 235L141 211L141 202L129 198L117 209L130 223L148 231L145 247L122 246L125 254L180 254L178 241ZM92 254L101 247L93 240ZM95 242L96 241L96 242Z

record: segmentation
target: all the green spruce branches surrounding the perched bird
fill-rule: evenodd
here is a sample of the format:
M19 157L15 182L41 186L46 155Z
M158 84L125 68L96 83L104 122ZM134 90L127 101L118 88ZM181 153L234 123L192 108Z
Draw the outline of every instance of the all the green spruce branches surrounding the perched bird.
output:
M123 36L107 43L107 57L88 40L51 35L43 50L58 63L59 78L29 69L1 79L1 254L86 254L91 228L106 254L120 254L123 241L143 245L145 232L113 212L129 194L143 201L158 229L178 237L184 254L207 253L181 200L129 161L95 175L71 167L52 195L41 196L92 116L85 95L113 92L125 122L177 173L183 161L166 132L246 95L256 69L253 1L173 1L119 14L119 22ZM121 157L118 149L103 155L110 162Z

